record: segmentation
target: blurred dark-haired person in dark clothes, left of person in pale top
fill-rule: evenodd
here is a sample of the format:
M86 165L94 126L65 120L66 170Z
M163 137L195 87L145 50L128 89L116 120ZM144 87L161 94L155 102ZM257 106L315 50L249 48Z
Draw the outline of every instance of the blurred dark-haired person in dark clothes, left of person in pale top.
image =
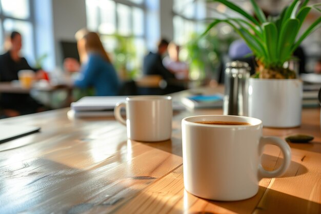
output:
M144 75L161 75L164 80L173 79L173 72L165 68L162 62L162 56L166 53L169 42L165 39L160 40L156 53L149 52L144 57L143 73Z

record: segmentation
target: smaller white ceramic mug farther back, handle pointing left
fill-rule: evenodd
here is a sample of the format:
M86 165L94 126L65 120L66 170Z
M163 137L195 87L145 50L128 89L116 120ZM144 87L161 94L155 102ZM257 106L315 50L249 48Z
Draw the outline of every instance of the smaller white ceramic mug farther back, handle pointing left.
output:
M126 121L121 109L126 107ZM114 108L115 119L127 125L127 137L135 141L165 141L172 134L172 98L141 95L126 98Z

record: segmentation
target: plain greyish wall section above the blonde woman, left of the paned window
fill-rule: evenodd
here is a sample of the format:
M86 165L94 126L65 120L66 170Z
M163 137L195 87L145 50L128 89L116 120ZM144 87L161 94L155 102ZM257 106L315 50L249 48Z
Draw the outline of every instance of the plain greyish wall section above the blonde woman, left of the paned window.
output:
M75 41L77 30L86 27L85 0L51 0L53 14L53 35L55 63L62 66L62 54L59 42Z

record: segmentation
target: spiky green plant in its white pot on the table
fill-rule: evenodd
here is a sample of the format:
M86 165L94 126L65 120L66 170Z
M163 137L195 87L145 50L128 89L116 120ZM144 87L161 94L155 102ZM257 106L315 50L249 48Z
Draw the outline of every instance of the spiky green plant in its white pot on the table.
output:
M213 0L237 12L243 18L224 14L223 19L214 19L205 33L218 23L230 25L252 50L257 64L256 73L249 81L249 116L261 119L265 126L295 127L301 122L302 82L285 62L300 43L321 25L318 17L302 34L298 34L305 18L321 4L307 5L294 0L277 17L266 17L250 0L254 15L227 0ZM204 34L205 34L204 33Z

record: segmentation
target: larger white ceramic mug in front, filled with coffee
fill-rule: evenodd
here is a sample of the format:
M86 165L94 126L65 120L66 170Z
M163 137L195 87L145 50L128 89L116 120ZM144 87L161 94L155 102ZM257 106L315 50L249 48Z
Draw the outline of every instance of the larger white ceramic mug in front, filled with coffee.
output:
M195 122L245 122L248 125L210 125ZM291 162L289 145L276 137L262 137L262 121L246 116L200 115L182 121L184 185L197 197L237 201L258 191L262 178L281 176ZM260 161L266 144L278 146L283 164L265 170Z

